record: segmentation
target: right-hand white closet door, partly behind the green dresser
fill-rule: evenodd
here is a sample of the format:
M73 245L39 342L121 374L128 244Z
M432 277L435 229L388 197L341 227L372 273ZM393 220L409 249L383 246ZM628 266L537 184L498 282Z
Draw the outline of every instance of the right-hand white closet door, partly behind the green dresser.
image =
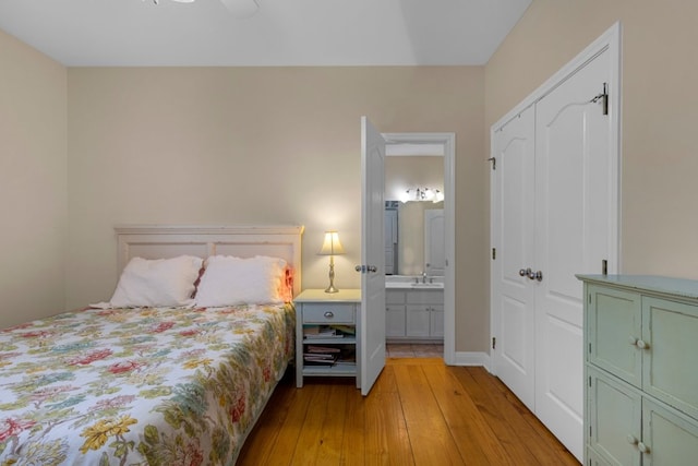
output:
M609 255L610 82L604 51L535 106L535 414L582 456L582 285Z

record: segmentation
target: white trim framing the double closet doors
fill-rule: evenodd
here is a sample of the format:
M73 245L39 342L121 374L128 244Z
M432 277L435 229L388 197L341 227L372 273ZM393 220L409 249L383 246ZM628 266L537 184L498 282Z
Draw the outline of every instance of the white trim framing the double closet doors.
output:
M586 65L589 61L593 60L597 56L604 51L610 53L611 62L611 77L609 83L610 98L609 98L609 118L611 118L611 134L610 134L610 159L609 170L611 172L611 206L609 208L609 237L615 238L615 240L609 243L609 274L621 273L621 170L622 170L622 126L621 126L621 112L622 112L622 24L621 22L614 23L606 32L604 32L599 38L587 46L581 52L579 52L573 60L561 68L555 74L547 79L542 85L533 91L528 97L521 100L518 105L508 111L502 119L494 123L490 128L490 156L495 157L495 150L492 142L494 141L494 134L505 127L510 120L517 118L527 108L535 105L539 100L550 94L558 85L565 82L577 70ZM490 213L492 213L492 202L494 200L494 190L496 187L490 182ZM490 244L492 248L496 247L496 231L493 228L493 216L490 215ZM493 307L495 288L493 267L490 263L490 340L495 338L496 330L500 327L501 315L495 312ZM490 353L490 372L497 373L497 360L492 348Z

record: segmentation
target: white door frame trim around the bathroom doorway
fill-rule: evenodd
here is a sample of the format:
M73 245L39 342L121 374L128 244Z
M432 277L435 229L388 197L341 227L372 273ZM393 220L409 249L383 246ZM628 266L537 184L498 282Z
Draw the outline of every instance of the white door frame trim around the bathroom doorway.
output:
M386 144L438 144L444 147L444 362L456 363L456 133L383 133Z

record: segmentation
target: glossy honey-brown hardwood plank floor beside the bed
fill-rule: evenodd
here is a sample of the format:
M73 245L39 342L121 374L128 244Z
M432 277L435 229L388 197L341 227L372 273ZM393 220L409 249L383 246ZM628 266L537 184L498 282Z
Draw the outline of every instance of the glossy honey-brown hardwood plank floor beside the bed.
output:
M238 465L575 465L483 368L387 360L366 397L353 379L277 386Z

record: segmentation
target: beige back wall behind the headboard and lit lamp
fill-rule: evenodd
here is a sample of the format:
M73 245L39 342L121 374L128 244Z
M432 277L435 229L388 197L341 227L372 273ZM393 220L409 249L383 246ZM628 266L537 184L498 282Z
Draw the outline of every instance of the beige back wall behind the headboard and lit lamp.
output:
M488 338L484 68L69 70L68 304L108 299L115 224L302 224L303 286L325 287L323 231L358 287L360 116L455 132L457 350ZM468 222L464 222L468 218Z

